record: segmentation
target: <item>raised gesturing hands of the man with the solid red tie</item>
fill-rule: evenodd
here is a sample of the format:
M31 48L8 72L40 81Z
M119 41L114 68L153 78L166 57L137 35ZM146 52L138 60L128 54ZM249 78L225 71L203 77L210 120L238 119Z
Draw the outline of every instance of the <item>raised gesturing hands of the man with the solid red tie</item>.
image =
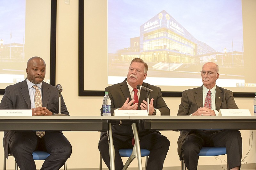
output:
M150 103L149 103L149 114L151 114L151 115L154 112L153 100L154 99L151 99ZM138 103L134 103L132 105L133 102L134 102L134 99L129 102L129 97L127 97L126 101L124 102L124 105L121 108L119 108L118 110L136 110L138 107ZM142 100L142 103L140 103L140 108L141 108L141 110L147 110L148 102L145 100Z

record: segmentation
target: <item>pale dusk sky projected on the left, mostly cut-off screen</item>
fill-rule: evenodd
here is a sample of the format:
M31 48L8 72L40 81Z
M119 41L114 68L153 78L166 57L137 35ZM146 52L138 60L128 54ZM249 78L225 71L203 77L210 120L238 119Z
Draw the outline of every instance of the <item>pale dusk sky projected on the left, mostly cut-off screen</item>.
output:
M1 0L0 5L0 40L4 41L3 44L23 43L25 39L25 0ZM25 40L24 40L25 41Z

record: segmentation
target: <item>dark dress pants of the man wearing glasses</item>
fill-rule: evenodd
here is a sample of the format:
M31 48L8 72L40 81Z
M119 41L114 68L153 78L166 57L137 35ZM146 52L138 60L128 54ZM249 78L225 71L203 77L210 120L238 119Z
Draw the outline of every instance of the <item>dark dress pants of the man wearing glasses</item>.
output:
M195 130L185 137L181 153L188 170L196 170L202 147L226 147L229 169L241 166L242 137L238 130Z

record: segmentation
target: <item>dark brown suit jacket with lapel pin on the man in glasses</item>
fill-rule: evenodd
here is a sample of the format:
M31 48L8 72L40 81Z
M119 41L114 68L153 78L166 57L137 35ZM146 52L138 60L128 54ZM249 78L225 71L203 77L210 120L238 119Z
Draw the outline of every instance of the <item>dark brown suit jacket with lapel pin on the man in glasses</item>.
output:
M220 108L238 109L233 97L233 92L218 86L216 86L215 105L217 111L219 111ZM182 92L181 103L177 115L191 115L199 107L203 107L203 85ZM178 139L178 154L180 160L182 160L181 144L189 132L189 130L182 130Z

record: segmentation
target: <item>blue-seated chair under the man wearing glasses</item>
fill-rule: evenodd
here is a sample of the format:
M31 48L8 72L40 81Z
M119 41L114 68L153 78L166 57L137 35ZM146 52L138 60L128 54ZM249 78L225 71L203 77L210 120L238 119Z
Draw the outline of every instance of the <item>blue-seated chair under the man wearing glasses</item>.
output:
M202 147L198 156L219 156L226 155L226 147ZM186 170L186 166L183 160L181 160L181 170ZM227 160L227 170L228 168L228 160Z

